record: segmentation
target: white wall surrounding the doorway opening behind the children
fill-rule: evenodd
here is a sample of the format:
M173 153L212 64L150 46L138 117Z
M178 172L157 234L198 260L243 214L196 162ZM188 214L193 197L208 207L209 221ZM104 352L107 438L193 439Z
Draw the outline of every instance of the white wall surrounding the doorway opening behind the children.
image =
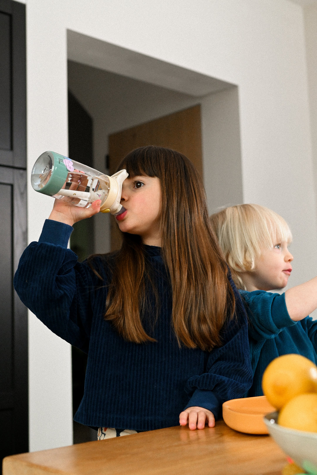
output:
M298 5L287 0L26 3L29 172L45 150L67 154L67 28L235 84L243 199L269 206L288 220L296 258L291 284L315 275L315 192ZM98 60L93 50L91 60ZM206 179L206 188L210 184ZM31 241L38 239L52 202L30 187L28 198ZM30 449L70 444L69 348L33 317L29 341Z

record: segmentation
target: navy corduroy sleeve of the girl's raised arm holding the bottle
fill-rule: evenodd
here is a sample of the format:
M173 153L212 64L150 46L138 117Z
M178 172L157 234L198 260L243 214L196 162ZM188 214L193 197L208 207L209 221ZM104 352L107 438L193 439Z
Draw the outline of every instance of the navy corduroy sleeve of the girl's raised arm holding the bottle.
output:
M52 332L88 351L94 283L85 264L67 249L73 228L47 219L38 242L23 252L14 276L21 301Z

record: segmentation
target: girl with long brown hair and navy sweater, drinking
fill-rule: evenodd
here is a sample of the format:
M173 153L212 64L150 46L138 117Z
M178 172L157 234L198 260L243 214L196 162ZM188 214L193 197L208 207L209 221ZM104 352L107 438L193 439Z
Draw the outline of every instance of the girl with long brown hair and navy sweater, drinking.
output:
M54 333L88 353L75 420L118 435L213 427L251 385L247 318L208 218L202 181L181 153L130 152L118 169L119 251L83 263L72 224L97 213L55 200L24 251L15 288ZM120 428L120 429L118 429Z

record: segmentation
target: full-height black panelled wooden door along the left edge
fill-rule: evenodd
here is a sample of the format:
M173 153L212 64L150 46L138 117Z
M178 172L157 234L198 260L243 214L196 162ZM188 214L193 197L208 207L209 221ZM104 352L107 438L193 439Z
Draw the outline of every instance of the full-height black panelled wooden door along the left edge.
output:
M25 5L0 0L0 456L29 450L27 309L12 279L27 245Z

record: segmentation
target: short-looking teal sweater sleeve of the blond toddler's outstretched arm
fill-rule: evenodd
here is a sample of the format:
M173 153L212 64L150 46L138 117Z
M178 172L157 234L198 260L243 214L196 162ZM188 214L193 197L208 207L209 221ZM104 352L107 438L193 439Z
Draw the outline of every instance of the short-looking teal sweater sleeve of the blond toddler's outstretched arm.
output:
M240 294L249 317L249 336L255 341L275 338L284 328L296 324L288 315L285 293L240 290Z

